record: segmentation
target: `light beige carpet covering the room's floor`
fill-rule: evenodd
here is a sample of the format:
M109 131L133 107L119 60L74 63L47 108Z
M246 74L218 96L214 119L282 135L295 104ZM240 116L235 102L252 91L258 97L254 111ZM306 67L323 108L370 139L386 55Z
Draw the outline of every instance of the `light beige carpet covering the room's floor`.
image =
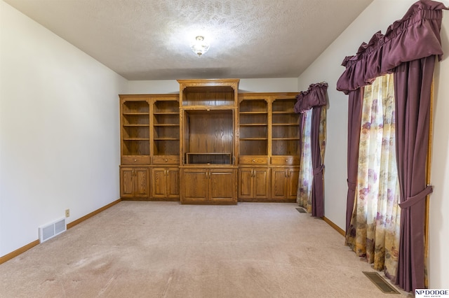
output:
M122 201L0 265L0 297L401 297L297 204Z

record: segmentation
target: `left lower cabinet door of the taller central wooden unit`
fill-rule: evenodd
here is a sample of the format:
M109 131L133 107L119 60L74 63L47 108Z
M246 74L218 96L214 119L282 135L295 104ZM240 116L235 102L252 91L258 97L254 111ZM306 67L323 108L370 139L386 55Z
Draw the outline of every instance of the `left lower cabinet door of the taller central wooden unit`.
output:
M208 173L206 169L182 170L181 201L207 201L209 193Z

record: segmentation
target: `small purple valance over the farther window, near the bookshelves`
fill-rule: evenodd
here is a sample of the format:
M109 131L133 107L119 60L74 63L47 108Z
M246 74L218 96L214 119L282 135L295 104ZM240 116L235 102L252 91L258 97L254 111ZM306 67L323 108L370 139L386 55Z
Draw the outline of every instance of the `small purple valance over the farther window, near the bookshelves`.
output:
M302 91L296 96L295 112L304 113L314 106L326 106L326 94L328 83L311 84L307 91Z

